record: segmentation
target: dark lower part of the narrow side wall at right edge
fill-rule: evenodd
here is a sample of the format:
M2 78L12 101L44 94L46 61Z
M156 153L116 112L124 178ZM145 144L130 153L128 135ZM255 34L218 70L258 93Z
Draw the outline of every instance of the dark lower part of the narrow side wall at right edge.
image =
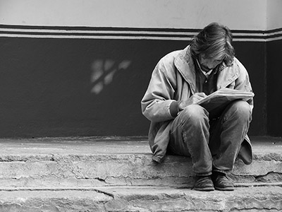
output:
M282 136L282 40L267 43L267 131L271 136Z

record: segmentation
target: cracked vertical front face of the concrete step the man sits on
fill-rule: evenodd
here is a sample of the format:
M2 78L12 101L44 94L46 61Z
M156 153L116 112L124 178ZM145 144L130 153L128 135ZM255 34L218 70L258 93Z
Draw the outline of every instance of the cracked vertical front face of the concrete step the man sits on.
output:
M0 162L0 182L11 186L46 187L56 182L68 187L79 185L192 185L190 158L168 156L163 164L154 165L151 155L93 154L54 155ZM252 165L235 163L234 182L281 182L282 161L254 160Z

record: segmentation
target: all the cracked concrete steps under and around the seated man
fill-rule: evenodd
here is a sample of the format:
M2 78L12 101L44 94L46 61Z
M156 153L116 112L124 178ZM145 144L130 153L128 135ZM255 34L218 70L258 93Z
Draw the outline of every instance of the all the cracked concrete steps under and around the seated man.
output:
M0 139L0 212L282 211L282 139L251 140L235 191L197 192L190 158L153 163L146 137Z

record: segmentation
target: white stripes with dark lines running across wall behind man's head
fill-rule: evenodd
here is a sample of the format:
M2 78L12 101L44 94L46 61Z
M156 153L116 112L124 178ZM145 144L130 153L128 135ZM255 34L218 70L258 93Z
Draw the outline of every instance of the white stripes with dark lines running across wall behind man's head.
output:
M56 34L55 34L56 33ZM0 37L31 38L71 38L71 39L121 39L121 40L192 40L197 32L177 32L162 30L65 30L65 29L25 29L0 28ZM240 37L238 37L240 36ZM271 36L271 37L269 37ZM282 40L282 29L267 33L236 33L234 41L268 42Z

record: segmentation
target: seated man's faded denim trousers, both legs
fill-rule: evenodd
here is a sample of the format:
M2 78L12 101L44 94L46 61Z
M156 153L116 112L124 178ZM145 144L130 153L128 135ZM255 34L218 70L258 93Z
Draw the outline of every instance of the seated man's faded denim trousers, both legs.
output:
M197 176L213 171L228 173L233 169L240 145L252 120L250 105L231 102L217 119L200 105L189 105L173 120L168 153L192 158L192 170Z

